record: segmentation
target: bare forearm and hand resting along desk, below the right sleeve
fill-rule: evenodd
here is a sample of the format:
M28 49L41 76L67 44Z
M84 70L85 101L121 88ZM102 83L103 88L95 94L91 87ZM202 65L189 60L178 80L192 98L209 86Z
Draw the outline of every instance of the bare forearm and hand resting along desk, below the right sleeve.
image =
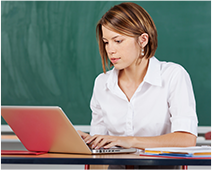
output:
M118 137L94 135L86 139L92 148L110 148L121 146L124 148L150 148L150 147L187 147L196 145L196 136L187 132L174 132L155 137Z

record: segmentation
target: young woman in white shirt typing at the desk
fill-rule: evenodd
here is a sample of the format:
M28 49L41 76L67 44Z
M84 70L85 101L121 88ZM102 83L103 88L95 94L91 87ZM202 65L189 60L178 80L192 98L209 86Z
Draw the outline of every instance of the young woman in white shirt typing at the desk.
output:
M82 138L92 148L195 146L190 77L180 65L154 57L157 31L150 15L122 3L101 18L96 31L104 73L95 80L90 135L80 132Z

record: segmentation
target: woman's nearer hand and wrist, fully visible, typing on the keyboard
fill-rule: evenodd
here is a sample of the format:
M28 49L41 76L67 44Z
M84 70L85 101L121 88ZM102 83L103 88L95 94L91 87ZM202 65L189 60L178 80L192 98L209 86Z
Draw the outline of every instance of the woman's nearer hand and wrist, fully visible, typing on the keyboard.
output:
M94 149L111 148L113 146L121 146L123 148L132 147L133 137L123 137L123 136L108 136L108 135L94 135L90 137L86 143L92 145Z

